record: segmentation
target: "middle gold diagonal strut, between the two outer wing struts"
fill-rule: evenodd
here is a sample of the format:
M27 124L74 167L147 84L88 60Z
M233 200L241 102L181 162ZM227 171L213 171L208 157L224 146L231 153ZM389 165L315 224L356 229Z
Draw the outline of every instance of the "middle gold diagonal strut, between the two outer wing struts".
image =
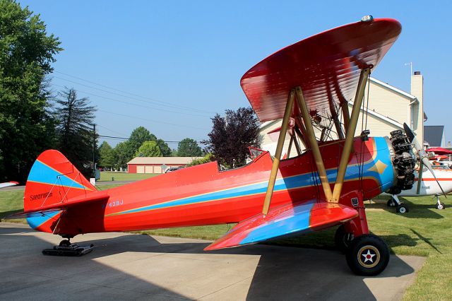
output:
M309 141L309 148L311 148L312 155L314 155L314 161L316 162L317 171L319 172L320 182L323 187L323 192L325 193L326 199L331 199L331 187L328 183L328 177L326 176L325 165L323 165L322 155L320 153L319 144L316 141L316 135L314 134L314 128L312 127L311 118L309 117L308 108L306 102L304 101L302 88L299 86L295 88L295 93L297 95L297 104L299 110L302 111L302 117L304 126L306 127L307 136Z

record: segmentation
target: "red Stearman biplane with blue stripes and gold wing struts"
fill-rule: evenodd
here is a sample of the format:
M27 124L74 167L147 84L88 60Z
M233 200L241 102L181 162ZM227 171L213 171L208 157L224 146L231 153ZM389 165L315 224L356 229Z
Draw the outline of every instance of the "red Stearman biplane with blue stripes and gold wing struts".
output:
M285 47L244 74L242 88L261 122L283 119L274 158L261 152L233 170L211 162L98 191L64 155L44 151L30 170L22 216L33 229L66 239L238 223L206 250L341 225L335 238L347 264L376 275L389 251L369 234L363 200L410 188L414 160L402 131L371 138L355 130L369 74L400 31L397 20L369 16ZM334 124L337 139L316 138L313 124L321 119ZM298 155L280 160L287 132ZM54 252L67 249L81 250L63 240Z

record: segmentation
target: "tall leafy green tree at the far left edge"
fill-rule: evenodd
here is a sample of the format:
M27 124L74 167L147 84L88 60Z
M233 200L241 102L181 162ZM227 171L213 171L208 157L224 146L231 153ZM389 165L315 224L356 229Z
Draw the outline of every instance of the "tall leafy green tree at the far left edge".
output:
M39 15L0 0L0 181L23 182L37 155L53 146L46 76L59 45Z

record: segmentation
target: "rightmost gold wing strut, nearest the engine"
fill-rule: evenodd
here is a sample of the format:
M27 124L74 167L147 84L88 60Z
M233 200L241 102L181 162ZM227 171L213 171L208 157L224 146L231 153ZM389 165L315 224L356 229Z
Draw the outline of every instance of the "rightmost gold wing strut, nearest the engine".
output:
M342 155L340 156L340 163L338 167L338 176L336 177L336 182L334 184L333 198L331 201L333 203L338 203L340 198L340 192L344 184L345 171L347 170L348 160L350 158L350 153L352 152L353 138L355 138L355 130L358 123L359 110L361 110L362 99L364 98L364 89L366 88L366 81L369 77L370 68L362 69L359 75L359 83L355 95L355 102L353 103L352 114L350 116L350 122L345 131L345 142ZM345 114L345 107L347 103L343 105L343 113ZM348 110L347 110L348 111ZM345 120L345 119L344 119Z

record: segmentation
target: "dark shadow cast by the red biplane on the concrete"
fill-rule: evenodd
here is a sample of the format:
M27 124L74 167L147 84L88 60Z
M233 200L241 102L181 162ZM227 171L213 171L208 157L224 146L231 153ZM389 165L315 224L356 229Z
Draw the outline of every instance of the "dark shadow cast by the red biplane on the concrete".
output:
M13 230L11 230L13 229ZM326 300L375 300L364 277L351 273L345 262L345 256L335 251L320 249L303 249L271 245L251 245L234 249L222 249L204 252L208 243L170 243L162 244L148 235L122 235L110 239L87 240L88 237L74 239L79 244L95 244L90 254L82 257L44 256L41 250L49 247L49 242L34 235L13 235L14 233L32 232L23 228L0 228L0 237L11 248L0 251L2 261L7 263L0 267L2 274L13 274L13 280L0 280L0 298L14 299L38 291L47 292L45 297L54 294L73 294L70 299L89 297L131 298L144 297L152 299L186 299L172 290L137 278L125 271L112 268L99 262L124 252L141 252L148 254L234 254L260 256L246 296L248 300L256 299L326 299ZM76 237L77 238L77 237ZM157 237L158 238L158 237ZM8 251L9 250L9 251ZM143 269L152 268L143 266ZM173 267L168 267L174 268ZM38 272L39 271L39 272ZM414 270L396 256L378 278L399 277ZM156 271L157 273L158 271ZM32 274L30 276L30 274ZM37 276L39 273L40 276ZM174 274L181 273L174 268ZM218 271L222 273L222 271ZM22 277L22 278L21 278ZM51 281L49 281L49 277ZM206 275L208 277L208 275ZM32 283L30 283L32 278ZM57 281L57 283L55 282ZM80 289L73 285L82 283ZM56 285L56 286L55 286ZM102 286L98 286L102 285ZM137 293L137 291L139 293ZM84 295L85 294L85 295Z

